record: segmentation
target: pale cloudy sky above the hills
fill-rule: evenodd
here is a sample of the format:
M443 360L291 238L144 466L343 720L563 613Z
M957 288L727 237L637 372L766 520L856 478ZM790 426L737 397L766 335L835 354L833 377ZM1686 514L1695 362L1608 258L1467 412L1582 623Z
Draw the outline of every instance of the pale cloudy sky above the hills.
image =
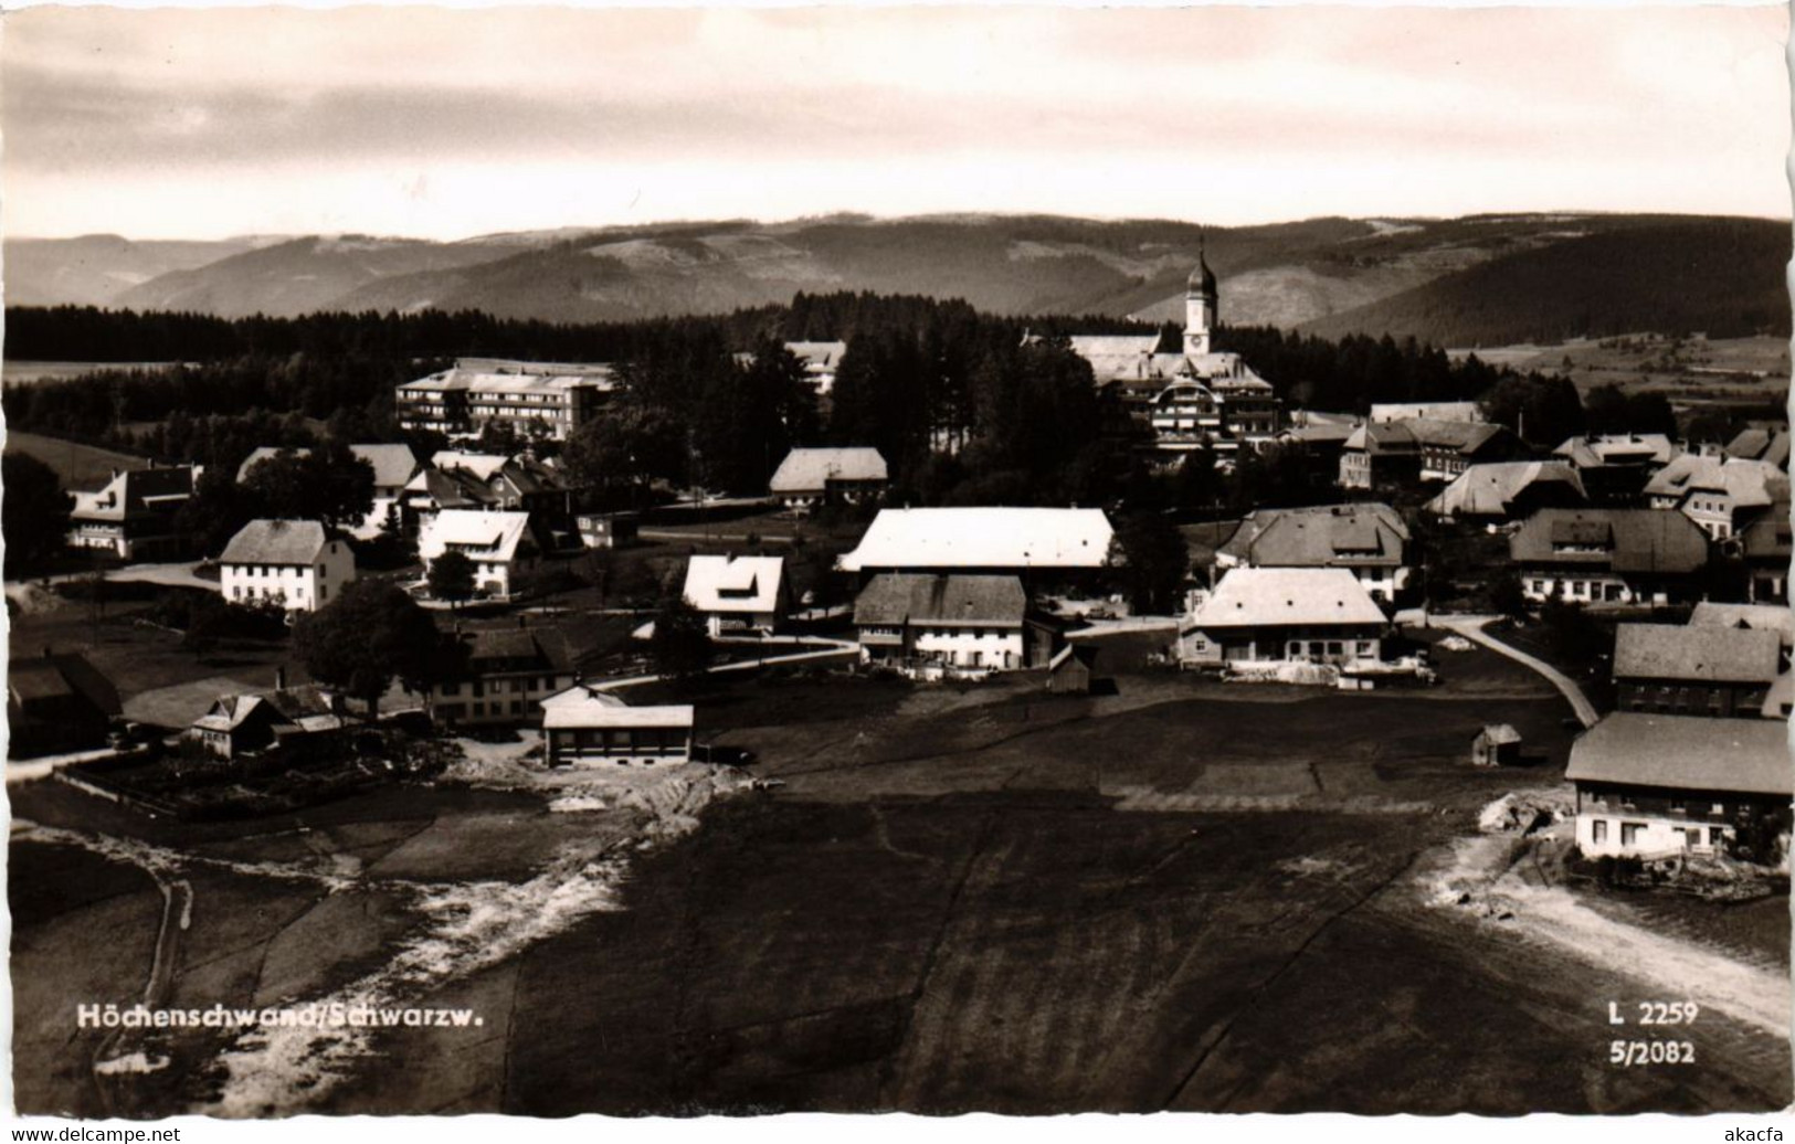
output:
M18 237L1790 215L1770 7L5 14Z

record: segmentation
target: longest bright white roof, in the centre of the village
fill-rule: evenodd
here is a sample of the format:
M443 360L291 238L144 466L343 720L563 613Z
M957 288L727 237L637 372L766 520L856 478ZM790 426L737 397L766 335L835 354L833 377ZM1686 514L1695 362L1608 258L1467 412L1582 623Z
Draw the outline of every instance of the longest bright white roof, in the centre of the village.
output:
M1115 531L1102 509L880 509L844 572L1081 574L1102 568Z

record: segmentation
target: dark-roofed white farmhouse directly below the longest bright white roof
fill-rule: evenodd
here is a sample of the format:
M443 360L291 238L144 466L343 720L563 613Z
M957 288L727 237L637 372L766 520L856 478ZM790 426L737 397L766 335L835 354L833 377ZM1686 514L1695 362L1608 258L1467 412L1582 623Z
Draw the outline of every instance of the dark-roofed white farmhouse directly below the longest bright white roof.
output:
M1045 667L1057 631L1014 576L874 576L854 601L863 663L982 676Z

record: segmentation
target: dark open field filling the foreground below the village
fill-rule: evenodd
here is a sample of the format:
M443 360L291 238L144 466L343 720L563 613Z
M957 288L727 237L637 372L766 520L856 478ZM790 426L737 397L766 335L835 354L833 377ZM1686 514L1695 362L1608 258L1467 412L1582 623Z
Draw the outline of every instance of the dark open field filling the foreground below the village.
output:
M1034 672L987 687L731 681L698 696L700 730L759 751L756 771L783 785L711 805L696 830L679 784L646 802L605 789L580 805L607 809L573 814L551 810L565 787L395 787L205 827L20 785L14 814L41 823L13 841L14 870L31 873L13 889L20 1105L1786 1105L1786 1042L1727 1017L1693 1033L1698 1067L1607 1067L1607 1002L1644 999L1642 984L1599 950L1567 956L1434 900L1429 871L1450 843L1502 793L1558 787L1571 735L1563 701L1519 665L1484 649L1440 658L1443 687L1371 694L1176 672L1124 672L1115 694L1090 698L1045 696ZM1513 723L1535 766L1472 767L1488 721ZM644 821L673 841L621 880L592 873ZM54 834L70 827L79 839ZM95 862L95 848L118 861ZM327 1047L298 1070L316 1090L271 1067L303 1047L280 1038L169 1038L151 1045L167 1069L101 1081L92 1062L120 1045L75 1035L63 1010L97 927L109 927L120 999L145 981L162 897L127 864L190 888L169 984L181 1004L373 981L406 1004L470 1006L483 1024ZM43 884L66 893L31 889ZM1677 909L1700 941L1705 904ZM1768 914L1745 923L1756 932ZM465 929L492 918L503 938ZM436 950L436 968L395 984L416 949ZM320 1072L332 1062L341 1076Z

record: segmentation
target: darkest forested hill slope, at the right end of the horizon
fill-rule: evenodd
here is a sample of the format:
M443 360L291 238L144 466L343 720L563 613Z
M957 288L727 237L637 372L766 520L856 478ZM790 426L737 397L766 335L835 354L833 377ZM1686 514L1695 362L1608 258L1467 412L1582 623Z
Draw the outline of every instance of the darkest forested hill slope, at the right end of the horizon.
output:
M1519 251L1301 328L1443 346L1635 332L1788 337L1788 260L1786 222L1662 222Z

